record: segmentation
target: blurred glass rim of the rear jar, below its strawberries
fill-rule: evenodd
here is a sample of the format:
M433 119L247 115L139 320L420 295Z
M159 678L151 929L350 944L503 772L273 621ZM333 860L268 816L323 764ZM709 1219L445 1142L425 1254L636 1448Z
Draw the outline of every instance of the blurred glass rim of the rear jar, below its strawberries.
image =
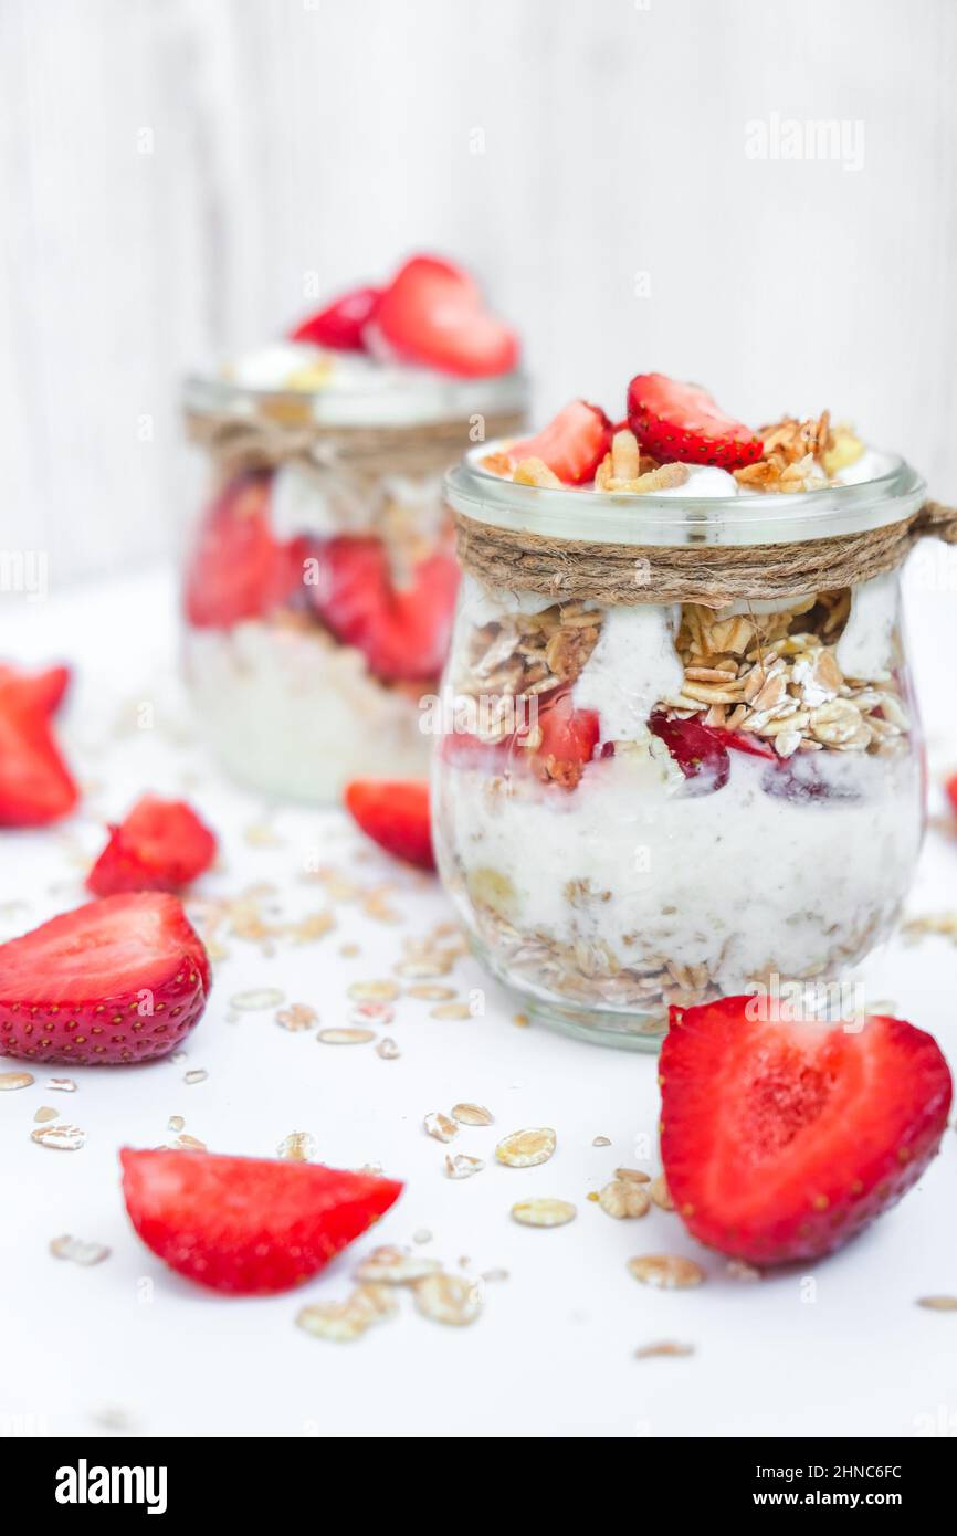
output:
M217 373L192 372L183 406L197 415L227 415L318 427L426 427L473 416L521 416L528 379L521 370L490 378L453 378L429 369L382 367L376 379L324 389L253 389ZM275 412L275 415L273 415Z

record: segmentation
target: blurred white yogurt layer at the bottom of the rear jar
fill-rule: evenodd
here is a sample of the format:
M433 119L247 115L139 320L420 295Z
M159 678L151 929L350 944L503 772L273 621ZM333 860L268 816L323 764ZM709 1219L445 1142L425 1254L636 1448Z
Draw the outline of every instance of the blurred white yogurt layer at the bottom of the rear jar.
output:
M318 630L246 621L190 630L195 708L229 773L267 794L329 803L356 777L421 777L429 737L413 699L370 677Z

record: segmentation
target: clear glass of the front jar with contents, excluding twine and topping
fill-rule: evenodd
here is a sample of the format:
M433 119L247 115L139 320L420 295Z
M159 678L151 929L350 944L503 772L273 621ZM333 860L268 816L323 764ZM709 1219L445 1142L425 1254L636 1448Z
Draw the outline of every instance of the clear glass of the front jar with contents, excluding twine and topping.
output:
M888 458L860 485L639 501L518 485L470 455L447 485L519 568L542 539L634 553L631 604L559 596L559 562L545 591L462 581L433 823L479 958L530 1014L637 1049L671 1003L799 983L845 998L923 834L897 571L840 587L825 554L803 596L711 608L647 601L648 554L757 547L762 571L776 545L900 522L920 479Z

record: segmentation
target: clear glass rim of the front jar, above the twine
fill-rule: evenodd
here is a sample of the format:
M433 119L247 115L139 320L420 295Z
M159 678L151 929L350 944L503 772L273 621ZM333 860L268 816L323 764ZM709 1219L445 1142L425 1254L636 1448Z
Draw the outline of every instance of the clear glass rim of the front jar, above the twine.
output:
M452 507L490 527L591 544L802 544L902 522L926 499L926 482L896 453L882 453L882 475L849 485L790 495L634 496L578 485L516 485L479 462L502 445L484 442L449 470Z

